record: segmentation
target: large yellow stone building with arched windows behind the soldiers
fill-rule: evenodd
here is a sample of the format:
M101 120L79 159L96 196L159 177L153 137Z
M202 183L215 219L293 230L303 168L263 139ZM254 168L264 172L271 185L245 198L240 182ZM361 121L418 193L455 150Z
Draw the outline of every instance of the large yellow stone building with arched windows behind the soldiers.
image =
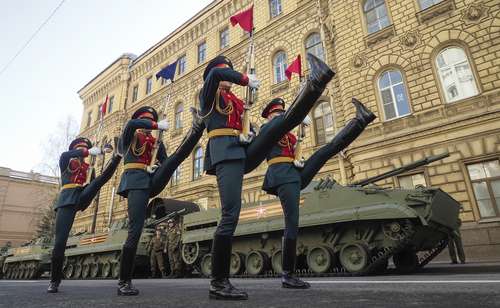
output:
M84 113L80 133L93 137L99 105L110 97L99 139L119 134L139 106L165 106L172 150L190 127L206 62L218 54L242 70L248 38L229 17L249 0L217 0L163 40L136 57L124 54L80 91ZM311 112L306 156L332 138L354 115L355 96L378 116L344 158L332 159L320 176L352 182L427 155L449 152L384 186L442 188L463 204L464 244L470 258L500 256L500 8L497 1L464 0L255 0L256 71L262 80L252 120L271 98L291 102L298 78L284 78L296 57L323 57L337 76ZM320 26L322 24L323 26ZM172 85L155 74L179 60ZM306 67L306 65L304 65ZM307 67L306 67L307 68ZM307 74L307 70L306 70ZM235 87L238 88L238 87ZM243 97L243 89L235 90ZM215 178L201 174L203 147L193 151L163 195L218 207ZM339 160L340 159L340 160ZM100 162L98 162L98 165ZM269 197L260 186L266 165L246 176L244 202ZM102 189L97 226L126 215L125 200L114 197L121 170ZM93 210L80 214L76 229L89 229Z

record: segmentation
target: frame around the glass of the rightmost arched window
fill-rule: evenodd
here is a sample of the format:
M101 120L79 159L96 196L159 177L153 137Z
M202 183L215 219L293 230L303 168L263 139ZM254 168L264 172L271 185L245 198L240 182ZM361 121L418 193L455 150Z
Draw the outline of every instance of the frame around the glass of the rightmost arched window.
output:
M477 93L475 95L472 95L472 96L469 96L466 98L461 98L461 99L454 100L454 101L448 101L446 98L447 96L446 96L444 84L441 80L440 68L437 64L437 58L445 49L452 48L452 47L460 48L465 53L465 57L467 59L467 62L469 64L469 68L470 68L472 76L474 78L474 84L476 86ZM434 71L434 77L437 80L439 95L441 97L441 101L445 105L446 104L455 104L458 102L466 101L466 100L469 100L469 99L472 99L474 97L481 95L481 93L483 92L483 89L481 87L482 85L479 82L480 79L479 79L479 76L477 74L475 63L472 61L473 58L471 57L468 46L464 45L463 43L461 43L459 41L455 41L455 40L447 42L446 44L442 44L434 49L431 59L432 59L432 68Z

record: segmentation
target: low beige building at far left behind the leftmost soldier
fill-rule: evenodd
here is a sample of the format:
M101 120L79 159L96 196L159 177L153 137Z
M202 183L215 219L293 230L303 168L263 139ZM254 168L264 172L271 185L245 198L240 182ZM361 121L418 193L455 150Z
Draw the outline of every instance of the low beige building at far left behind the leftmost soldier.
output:
M56 177L0 167L0 247L33 239L58 186Z

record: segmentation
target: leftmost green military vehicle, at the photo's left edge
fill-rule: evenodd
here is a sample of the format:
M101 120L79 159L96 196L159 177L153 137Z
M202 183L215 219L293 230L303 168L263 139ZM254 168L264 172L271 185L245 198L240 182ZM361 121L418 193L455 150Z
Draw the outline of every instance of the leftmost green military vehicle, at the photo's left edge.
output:
M10 248L4 255L4 279L38 279L50 270L52 245L47 238L37 238L30 243Z

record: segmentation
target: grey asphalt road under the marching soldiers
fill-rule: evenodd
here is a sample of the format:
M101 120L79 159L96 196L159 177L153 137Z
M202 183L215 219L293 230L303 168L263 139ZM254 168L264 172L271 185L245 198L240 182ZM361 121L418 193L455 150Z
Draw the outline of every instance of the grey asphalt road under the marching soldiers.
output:
M500 265L432 265L412 275L306 278L309 290L280 287L278 279L233 279L249 300L208 299L208 280L137 279L141 294L116 295L116 281L63 281L47 294L47 280L0 280L0 307L500 307Z

